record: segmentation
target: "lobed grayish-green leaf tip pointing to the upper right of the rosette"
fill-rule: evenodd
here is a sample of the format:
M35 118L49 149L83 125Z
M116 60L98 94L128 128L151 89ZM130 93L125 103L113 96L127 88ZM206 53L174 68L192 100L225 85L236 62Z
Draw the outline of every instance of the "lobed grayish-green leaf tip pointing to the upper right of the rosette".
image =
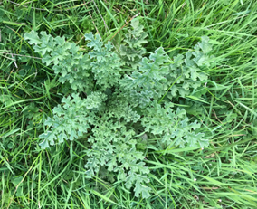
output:
M201 70L210 67L214 62L214 56L207 54L211 50L209 38L203 36L202 42L195 45L194 52L186 52L186 57L178 54L173 58L174 62L169 65L171 73L169 73L168 80L175 82L176 85L173 85L167 94L170 99L189 95L201 87L202 81L207 80L207 76Z

